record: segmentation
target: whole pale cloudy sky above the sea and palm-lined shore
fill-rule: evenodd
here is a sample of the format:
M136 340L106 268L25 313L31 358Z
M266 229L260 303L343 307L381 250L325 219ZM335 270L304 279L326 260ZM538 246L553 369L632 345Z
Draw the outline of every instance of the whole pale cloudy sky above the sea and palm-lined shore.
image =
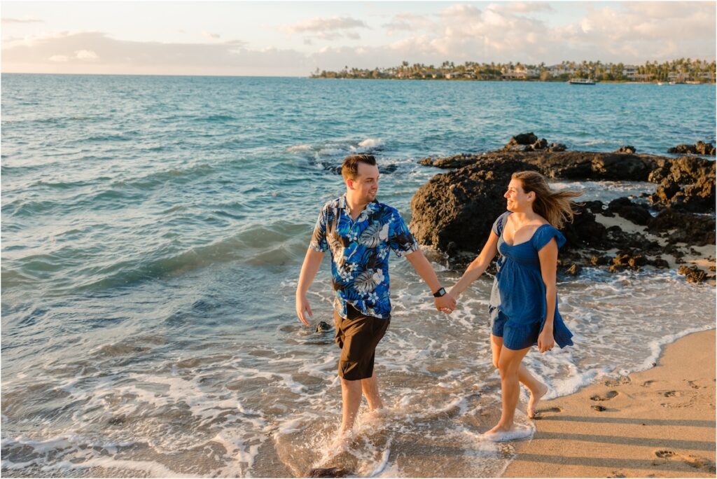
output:
M715 1L2 1L2 72L305 77L444 61L713 61Z

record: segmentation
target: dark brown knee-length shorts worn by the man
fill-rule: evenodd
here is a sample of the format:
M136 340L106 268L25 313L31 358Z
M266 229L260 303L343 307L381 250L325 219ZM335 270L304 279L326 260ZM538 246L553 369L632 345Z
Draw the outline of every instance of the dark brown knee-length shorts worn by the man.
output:
M370 378L374 375L376 345L384 337L391 320L365 316L350 304L346 305L346 316L348 319L333 313L336 344L341 348L338 376L348 381Z

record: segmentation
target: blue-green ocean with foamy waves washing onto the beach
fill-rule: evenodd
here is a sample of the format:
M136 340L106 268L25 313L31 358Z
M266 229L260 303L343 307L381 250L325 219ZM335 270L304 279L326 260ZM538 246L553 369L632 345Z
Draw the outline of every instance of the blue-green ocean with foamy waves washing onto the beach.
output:
M445 316L396 257L376 359L389 409L359 417L356 447L330 458L338 348L300 325L294 292L319 209L344 190L335 167L356 152L393 166L379 201L409 221L415 191L442 173L417 164L425 156L489 151L527 131L571 150L655 154L716 139L714 85L1 80L7 477L281 477L321 465L500 475L513 446L480 438L500 414L492 280ZM655 189L560 186L603 201ZM460 278L425 252L444 285ZM331 323L329 273L325 259L309 293L314 323ZM647 369L665 343L715 327L713 288L675 270L587 269L558 290L575 346L526 356L549 397Z

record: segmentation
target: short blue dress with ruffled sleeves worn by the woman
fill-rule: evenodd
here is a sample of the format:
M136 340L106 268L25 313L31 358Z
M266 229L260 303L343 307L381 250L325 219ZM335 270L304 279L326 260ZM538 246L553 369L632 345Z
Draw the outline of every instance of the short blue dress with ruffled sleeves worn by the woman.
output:
M493 223L493 232L498 235L500 257L493 291L490 293L489 312L493 336L503 337L503 346L517 350L536 345L545 324L548 305L538 251L553 238L558 242L558 247L562 247L565 237L550 224L542 224L530 240L508 245L503 240L503 227L510 214L501 214ZM558 311L557 297L553 336L561 348L573 344L573 334L565 326Z

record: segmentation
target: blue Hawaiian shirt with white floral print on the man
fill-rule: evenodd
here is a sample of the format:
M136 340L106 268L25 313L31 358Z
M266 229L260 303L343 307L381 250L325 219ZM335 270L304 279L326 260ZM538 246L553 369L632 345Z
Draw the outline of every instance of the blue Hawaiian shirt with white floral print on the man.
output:
M397 209L373 201L353 221L345 194L323 206L309 247L331 251L336 313L346 318L351 303L361 313L383 319L391 318L389 248L399 257L419 249Z

